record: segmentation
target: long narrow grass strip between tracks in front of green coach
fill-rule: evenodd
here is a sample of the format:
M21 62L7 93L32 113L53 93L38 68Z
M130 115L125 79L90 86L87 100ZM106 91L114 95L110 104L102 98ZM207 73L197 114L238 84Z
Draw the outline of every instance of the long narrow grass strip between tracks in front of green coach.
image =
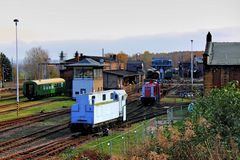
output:
M56 102L52 102L50 104L45 104L45 105L41 105L41 106L37 106L37 107L20 110L18 117L21 118L21 117L38 114L41 111L50 112L50 111L60 109L63 106L70 107L74 103L75 103L75 101L73 101L71 99L66 100L66 101L60 101L60 102L56 101ZM16 119L16 118L17 118L16 112L11 112L11 113L0 115L0 121L12 120L12 119Z

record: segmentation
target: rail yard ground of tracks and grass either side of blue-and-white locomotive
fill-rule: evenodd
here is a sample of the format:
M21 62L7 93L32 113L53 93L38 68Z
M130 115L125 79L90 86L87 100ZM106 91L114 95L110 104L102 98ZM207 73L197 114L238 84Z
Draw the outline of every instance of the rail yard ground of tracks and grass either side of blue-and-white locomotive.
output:
M170 85L166 89L169 97L179 97L179 90L189 90L189 86ZM189 102L160 102L146 107L139 101L140 93L128 93L127 122L132 124L166 114L164 106L186 106ZM75 101L64 96L49 97L29 101L20 97L19 115L13 91L1 92L0 100L0 159L47 159L71 146L93 141L93 134L71 133L69 129L70 106ZM167 97L167 96L166 96ZM67 103L66 103L67 101ZM51 106L51 109L46 109ZM31 112L35 110L34 112ZM16 116L15 116L16 117ZM114 128L124 127L113 126Z

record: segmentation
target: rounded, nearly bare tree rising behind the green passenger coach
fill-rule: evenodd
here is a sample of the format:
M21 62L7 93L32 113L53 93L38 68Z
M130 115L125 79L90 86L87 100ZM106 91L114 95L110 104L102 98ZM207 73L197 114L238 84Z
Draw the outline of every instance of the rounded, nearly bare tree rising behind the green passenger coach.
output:
M41 73L40 64L48 63L50 60L48 52L41 47L32 48L26 52L26 57L23 60L24 71L27 79L38 79ZM40 68L39 68L40 67Z

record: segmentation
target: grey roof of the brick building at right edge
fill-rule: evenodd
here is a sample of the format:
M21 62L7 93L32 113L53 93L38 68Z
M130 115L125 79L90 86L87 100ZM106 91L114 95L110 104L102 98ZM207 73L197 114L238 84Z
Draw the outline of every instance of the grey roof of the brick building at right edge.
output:
M210 42L208 65L240 65L240 42Z

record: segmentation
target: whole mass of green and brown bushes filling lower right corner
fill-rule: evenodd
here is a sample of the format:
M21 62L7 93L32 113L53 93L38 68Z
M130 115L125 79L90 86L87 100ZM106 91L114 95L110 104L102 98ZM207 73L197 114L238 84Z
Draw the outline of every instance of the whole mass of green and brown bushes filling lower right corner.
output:
M177 125L161 127L127 159L240 160L240 89L232 82L194 103L192 114Z

